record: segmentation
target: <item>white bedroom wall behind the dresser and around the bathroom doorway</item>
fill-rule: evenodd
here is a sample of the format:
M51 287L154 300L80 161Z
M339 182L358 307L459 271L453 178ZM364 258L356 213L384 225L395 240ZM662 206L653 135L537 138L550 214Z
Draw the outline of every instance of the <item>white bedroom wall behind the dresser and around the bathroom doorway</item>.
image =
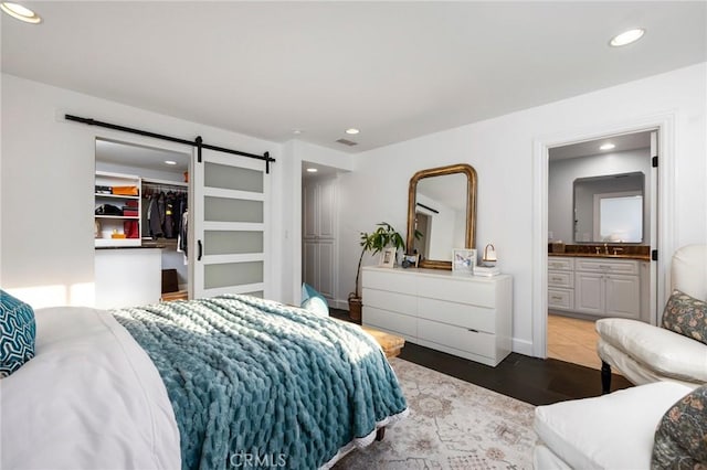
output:
M703 63L361 153L340 180L340 291L354 285L359 232L381 221L405 232L414 172L469 163L478 173L476 247L493 242L502 271L514 276L514 351L532 354L540 314L532 311L535 142L579 131L599 137L612 125L671 114L677 194L676 226L667 229L676 246L707 242L705 83Z

